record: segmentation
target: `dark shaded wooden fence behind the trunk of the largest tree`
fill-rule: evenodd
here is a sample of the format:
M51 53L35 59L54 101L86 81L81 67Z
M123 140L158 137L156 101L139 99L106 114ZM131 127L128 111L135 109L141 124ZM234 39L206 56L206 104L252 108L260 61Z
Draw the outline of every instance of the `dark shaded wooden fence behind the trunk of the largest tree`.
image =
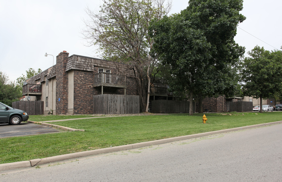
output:
M155 100L152 102L153 113L189 113L190 101ZM195 113L195 102L193 102Z

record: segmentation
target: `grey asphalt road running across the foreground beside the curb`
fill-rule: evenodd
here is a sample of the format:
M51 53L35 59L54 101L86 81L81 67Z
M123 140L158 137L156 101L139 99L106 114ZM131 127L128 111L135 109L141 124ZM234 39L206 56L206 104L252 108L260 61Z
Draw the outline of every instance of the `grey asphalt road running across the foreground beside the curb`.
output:
M7 172L0 181L282 181L282 124Z

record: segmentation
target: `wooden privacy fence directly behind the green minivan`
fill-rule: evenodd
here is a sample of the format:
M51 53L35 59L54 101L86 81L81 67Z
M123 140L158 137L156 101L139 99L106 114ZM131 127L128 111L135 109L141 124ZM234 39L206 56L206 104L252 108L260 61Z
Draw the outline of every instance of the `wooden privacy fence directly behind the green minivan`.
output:
M43 114L43 101L16 101L12 103L12 107L24 110L28 115Z

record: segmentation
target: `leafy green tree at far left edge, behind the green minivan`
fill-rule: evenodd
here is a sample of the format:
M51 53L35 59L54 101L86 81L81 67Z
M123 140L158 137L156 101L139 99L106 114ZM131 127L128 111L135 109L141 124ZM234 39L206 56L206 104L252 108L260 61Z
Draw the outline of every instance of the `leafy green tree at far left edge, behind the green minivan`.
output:
M17 89L15 82L9 80L9 77L0 72L0 102L12 106L12 102L18 101L21 92Z

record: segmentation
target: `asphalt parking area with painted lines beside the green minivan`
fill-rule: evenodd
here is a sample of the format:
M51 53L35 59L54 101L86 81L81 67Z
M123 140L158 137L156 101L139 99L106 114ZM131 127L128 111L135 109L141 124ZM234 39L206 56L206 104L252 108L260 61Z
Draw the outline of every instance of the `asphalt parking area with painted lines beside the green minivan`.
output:
M23 122L20 125L0 124L0 138L62 132L50 126Z

